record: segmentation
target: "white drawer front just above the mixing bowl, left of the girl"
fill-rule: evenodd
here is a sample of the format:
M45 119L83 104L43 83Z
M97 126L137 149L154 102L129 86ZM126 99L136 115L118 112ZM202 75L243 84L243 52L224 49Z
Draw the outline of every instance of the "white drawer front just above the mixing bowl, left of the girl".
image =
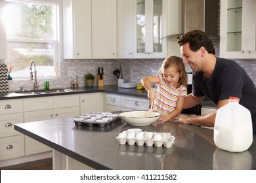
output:
M137 97L121 97L121 107L131 108L133 110L148 110L149 99L141 99Z

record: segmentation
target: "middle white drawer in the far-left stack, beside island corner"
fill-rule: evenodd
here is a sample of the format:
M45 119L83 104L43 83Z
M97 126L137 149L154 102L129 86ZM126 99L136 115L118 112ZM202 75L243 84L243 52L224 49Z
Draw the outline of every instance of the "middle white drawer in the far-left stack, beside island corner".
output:
M0 115L0 137L9 137L12 135L21 135L14 129L14 124L23 123L23 113Z

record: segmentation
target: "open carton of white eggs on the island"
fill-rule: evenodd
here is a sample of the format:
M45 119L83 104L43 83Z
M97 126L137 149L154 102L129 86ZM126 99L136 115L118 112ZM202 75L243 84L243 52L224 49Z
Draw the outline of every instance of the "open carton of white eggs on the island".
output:
M127 131L122 131L116 137L119 144L129 144L138 146L165 146L165 148L170 148L175 140L175 137L171 133L158 133L158 132L148 132L142 131L141 129L128 129Z

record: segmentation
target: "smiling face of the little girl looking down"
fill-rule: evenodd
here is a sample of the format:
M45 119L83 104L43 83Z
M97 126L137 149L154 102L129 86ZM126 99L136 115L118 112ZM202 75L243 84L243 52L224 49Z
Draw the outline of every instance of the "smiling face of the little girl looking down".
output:
M179 71L177 71L176 67L173 65L167 69L163 69L163 79L174 88L178 88L180 77L181 73L179 73Z

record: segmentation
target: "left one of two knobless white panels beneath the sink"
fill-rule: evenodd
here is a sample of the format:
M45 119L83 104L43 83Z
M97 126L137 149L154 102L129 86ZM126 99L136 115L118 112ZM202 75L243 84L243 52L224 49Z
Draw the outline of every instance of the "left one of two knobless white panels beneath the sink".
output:
M24 99L24 112L45 110L53 108L52 97L39 97L34 99Z

